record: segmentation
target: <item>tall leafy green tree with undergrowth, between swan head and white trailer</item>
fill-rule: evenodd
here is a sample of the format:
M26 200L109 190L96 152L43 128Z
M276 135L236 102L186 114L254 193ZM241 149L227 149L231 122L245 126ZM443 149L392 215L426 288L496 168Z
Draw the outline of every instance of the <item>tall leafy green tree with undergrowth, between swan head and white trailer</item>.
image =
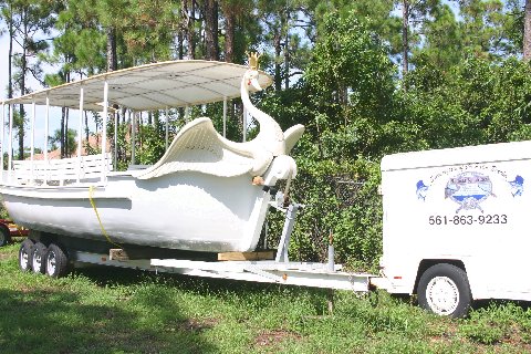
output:
M378 167L367 159L391 139L400 142L393 122L396 71L386 45L354 11L329 13L319 33L303 80L264 102L284 126L295 121L308 129L294 152L291 196L312 208L299 219L292 251L323 260L333 233L339 260L371 264L381 249L381 205Z

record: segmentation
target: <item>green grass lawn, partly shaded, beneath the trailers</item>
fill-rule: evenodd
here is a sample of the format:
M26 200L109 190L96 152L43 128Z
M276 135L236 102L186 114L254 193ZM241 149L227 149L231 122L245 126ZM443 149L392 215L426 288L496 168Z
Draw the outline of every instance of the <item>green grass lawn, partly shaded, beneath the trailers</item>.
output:
M489 303L467 320L426 313L385 292L77 269L22 273L0 249L0 353L523 353L531 310Z

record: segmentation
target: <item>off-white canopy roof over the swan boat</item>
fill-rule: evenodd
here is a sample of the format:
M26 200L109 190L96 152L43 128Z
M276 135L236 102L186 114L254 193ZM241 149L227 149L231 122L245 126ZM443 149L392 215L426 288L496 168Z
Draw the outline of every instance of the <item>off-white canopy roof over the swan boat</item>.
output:
M247 66L202 60L181 60L135 66L103 73L31 94L6 100L2 104L46 104L80 107L83 87L84 108L102 111L103 87L108 83L108 105L136 111L164 110L222 101L240 96L240 84ZM260 72L259 83L268 87L271 76Z

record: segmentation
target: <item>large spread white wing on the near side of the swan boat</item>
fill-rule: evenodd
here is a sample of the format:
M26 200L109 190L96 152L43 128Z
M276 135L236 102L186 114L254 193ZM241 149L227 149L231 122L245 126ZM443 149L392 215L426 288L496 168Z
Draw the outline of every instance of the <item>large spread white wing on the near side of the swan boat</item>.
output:
M219 177L266 170L272 156L251 146L232 143L220 136L209 118L197 118L185 125L168 150L150 168L136 177L149 179L176 171L199 171Z

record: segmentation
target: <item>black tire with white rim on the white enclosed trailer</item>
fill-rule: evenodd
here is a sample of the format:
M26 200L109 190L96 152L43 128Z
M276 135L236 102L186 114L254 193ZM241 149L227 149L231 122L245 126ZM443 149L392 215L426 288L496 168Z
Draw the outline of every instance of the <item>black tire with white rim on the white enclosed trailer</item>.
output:
M455 319L466 316L472 303L467 273L448 263L428 268L420 277L417 294L420 308Z

